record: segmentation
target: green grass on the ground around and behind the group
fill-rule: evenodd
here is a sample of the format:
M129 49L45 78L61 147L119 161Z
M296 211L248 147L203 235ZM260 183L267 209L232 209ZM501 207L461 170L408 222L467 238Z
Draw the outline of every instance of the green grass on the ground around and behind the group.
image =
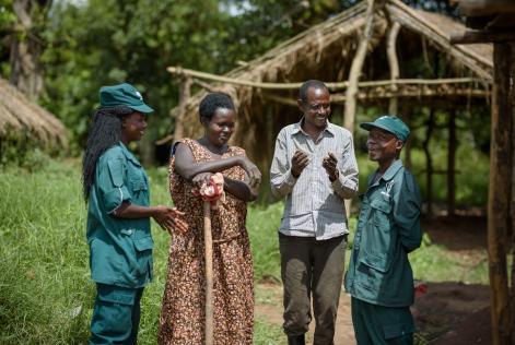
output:
M169 203L166 168L149 171L152 203ZM77 162L49 160L37 172L0 170L0 344L83 344L89 336L94 284L85 241L85 205ZM249 207L255 279L280 279L277 228L282 204ZM355 219L351 219L351 227ZM154 283L142 299L140 344L155 344L166 278L169 236L153 226ZM428 241L411 254L415 277L429 282L488 282L475 266ZM257 302L264 302L257 296ZM280 326L256 320L255 344L281 344Z

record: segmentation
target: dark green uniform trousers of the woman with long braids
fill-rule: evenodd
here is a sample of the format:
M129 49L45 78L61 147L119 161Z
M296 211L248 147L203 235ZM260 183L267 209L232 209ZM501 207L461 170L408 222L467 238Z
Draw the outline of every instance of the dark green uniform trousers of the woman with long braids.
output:
M90 344L136 344L143 288L96 284Z

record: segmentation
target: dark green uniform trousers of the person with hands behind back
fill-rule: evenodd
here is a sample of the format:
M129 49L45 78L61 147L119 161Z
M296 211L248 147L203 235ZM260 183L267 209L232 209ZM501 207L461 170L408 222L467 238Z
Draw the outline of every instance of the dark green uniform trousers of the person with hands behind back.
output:
M414 322L409 307L384 307L352 297L358 345L412 345Z

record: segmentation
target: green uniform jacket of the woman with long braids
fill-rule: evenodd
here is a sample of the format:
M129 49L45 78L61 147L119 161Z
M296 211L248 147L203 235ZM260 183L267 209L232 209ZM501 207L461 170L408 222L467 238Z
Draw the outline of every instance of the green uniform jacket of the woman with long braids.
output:
M120 142L96 164L87 210L90 266L96 283L142 287L152 281L150 218L112 215L124 201L149 205L149 180L138 159Z

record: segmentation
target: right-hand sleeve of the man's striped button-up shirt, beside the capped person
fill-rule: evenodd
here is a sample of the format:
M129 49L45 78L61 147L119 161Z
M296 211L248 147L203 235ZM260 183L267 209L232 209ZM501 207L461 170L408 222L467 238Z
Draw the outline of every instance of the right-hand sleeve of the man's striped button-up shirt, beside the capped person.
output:
M344 145L342 156L338 162L340 174L338 179L332 182L332 189L341 199L351 199L358 193L358 163L352 136Z

